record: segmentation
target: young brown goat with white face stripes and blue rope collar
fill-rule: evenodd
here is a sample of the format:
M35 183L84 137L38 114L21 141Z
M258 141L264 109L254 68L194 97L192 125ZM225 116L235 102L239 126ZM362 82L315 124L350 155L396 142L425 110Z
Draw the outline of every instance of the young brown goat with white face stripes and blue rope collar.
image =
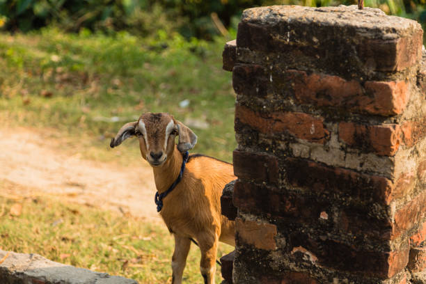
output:
M111 140L111 148L131 136L139 138L141 155L152 166L157 194L168 193L171 184L179 180L184 153L194 148L196 134L168 113L143 113L139 120L121 127ZM175 145L176 136L179 136L178 145ZM157 207L175 238L172 283L182 283L191 239L196 239L204 283L213 284L218 242L235 246L234 222L221 215L220 204L223 187L235 180L232 164L204 155L190 155L181 178L173 191L166 193L162 210L161 198Z

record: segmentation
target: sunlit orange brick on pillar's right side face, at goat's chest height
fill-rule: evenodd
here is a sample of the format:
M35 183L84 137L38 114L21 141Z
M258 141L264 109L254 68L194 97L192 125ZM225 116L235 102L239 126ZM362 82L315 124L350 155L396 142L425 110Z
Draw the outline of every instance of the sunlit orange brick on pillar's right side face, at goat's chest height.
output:
M399 237L407 230L418 225L426 215L426 192L422 192L400 210L395 212L392 238Z

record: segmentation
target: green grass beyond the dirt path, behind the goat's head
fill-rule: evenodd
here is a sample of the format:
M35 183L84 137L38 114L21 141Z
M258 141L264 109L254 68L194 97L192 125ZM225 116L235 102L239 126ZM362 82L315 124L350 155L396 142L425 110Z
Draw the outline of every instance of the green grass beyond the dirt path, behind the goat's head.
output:
M56 29L0 34L0 120L54 127L104 148L141 113L168 112L198 135L194 152L230 161L235 97L231 74L221 69L224 42L187 42L162 31L150 38ZM134 154L137 147L124 148Z

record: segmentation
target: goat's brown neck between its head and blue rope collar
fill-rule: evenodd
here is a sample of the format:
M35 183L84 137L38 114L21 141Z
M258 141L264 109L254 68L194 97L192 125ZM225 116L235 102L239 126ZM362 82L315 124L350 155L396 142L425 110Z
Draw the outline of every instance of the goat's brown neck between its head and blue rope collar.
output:
M153 167L155 187L159 194L166 191L168 187L178 178L183 157L175 146L173 154L167 157L167 161L161 166Z

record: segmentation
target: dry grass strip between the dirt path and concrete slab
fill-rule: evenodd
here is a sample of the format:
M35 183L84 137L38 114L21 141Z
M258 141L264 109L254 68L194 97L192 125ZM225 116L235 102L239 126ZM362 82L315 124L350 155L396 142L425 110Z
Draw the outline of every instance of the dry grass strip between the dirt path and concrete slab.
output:
M38 253L56 262L133 278L139 283L171 283L174 242L165 226L66 203L55 196L0 196L0 204L3 250ZM19 216L10 214L16 204L22 205ZM230 246L221 244L218 258L230 251ZM185 283L203 282L199 261L199 249L192 245L184 270ZM218 266L216 283L220 282Z

